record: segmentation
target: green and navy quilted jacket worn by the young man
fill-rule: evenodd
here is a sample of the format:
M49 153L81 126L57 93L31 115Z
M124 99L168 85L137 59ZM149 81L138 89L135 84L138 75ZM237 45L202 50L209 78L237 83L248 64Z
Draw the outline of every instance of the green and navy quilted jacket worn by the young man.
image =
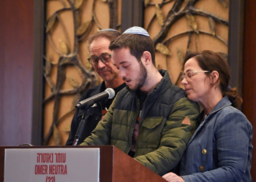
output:
M159 70L162 80L143 103L135 159L159 175L178 165L186 144L195 131L199 106L187 99L184 90L170 82L167 71ZM136 92L124 88L81 145L114 145L128 154L132 132L140 113ZM191 124L183 124L189 118ZM185 120L184 120L185 119Z

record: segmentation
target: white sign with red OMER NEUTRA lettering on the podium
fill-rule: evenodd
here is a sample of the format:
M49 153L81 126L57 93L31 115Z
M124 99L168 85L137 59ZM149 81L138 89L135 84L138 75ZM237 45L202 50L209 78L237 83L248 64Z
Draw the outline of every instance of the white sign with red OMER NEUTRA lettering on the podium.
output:
M4 182L99 182L99 149L5 149Z

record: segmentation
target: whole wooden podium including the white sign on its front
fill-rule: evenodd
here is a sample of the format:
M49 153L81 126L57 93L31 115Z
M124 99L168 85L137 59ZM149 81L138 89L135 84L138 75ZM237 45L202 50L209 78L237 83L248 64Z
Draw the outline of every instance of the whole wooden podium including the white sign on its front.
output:
M166 182L115 146L0 146L3 181Z

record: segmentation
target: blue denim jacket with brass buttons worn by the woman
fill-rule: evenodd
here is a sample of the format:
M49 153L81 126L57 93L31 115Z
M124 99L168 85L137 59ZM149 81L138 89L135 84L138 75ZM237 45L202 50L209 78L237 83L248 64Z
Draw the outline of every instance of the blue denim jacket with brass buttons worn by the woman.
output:
M190 138L181 158L184 181L252 181L252 124L230 105L222 98Z

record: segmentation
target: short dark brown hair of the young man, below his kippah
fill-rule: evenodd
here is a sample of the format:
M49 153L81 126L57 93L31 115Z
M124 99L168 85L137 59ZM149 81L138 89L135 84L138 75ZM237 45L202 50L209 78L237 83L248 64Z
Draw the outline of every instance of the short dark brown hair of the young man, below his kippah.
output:
M141 61L140 58L142 57L143 52L150 52L152 63L154 66L156 66L154 55L154 42L150 37L134 33L123 33L121 34L121 36L118 36L118 38L111 41L108 48L110 50L116 50L123 47L129 48L131 55L135 56L139 63Z

